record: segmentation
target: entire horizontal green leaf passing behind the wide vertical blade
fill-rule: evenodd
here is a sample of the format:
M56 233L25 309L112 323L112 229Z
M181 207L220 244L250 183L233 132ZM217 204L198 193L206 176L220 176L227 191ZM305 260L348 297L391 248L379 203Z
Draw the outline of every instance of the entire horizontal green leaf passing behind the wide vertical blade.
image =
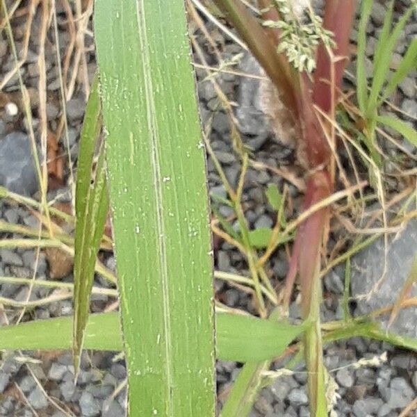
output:
M269 320L268 324L266 320L230 313L217 313L216 318L216 347L218 359L223 360L245 359L254 362L273 359L304 330L304 326L281 325ZM136 337L141 345L143 337L139 334ZM71 346L71 317L0 327L0 349L67 350ZM90 314L85 327L84 347L94 350L122 350L119 314Z

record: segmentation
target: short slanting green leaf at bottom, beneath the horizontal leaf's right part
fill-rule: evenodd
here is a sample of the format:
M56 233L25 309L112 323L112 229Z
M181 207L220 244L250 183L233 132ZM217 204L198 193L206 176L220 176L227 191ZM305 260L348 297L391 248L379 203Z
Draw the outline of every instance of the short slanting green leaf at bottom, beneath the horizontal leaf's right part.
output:
M245 363L233 386L231 386L220 417L249 416L256 395L261 389L262 374L270 368L270 364L271 361Z

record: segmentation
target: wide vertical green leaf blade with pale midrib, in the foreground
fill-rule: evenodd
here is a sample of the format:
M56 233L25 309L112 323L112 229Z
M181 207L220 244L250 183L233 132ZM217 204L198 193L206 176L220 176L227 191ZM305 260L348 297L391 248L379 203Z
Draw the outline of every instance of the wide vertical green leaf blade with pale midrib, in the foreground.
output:
M131 416L213 416L205 153L183 0L96 0Z

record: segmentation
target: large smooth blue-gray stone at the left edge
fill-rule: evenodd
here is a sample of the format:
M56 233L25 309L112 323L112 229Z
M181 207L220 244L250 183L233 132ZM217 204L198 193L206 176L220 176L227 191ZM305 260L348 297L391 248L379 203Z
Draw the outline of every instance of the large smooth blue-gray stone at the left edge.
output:
M22 195L33 195L38 190L31 142L22 132L0 139L0 185Z

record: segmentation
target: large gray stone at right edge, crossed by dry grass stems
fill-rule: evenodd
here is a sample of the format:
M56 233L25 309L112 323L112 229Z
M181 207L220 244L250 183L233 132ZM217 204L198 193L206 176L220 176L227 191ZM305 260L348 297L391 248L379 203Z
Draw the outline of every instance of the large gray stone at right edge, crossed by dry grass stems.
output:
M416 256L417 221L412 220L407 227L389 243L387 254L386 275L372 297L366 297L382 278L384 271L384 241L377 242L357 254L352 259L351 288L352 297L357 299L357 313L368 314L370 311L393 304L398 297L398 291L404 284L411 263ZM394 290L393 290L394 289ZM411 296L417 295L417 288L411 291ZM381 319L386 326L389 318ZM391 331L411 337L417 336L417 309L402 309L397 320L391 326Z

